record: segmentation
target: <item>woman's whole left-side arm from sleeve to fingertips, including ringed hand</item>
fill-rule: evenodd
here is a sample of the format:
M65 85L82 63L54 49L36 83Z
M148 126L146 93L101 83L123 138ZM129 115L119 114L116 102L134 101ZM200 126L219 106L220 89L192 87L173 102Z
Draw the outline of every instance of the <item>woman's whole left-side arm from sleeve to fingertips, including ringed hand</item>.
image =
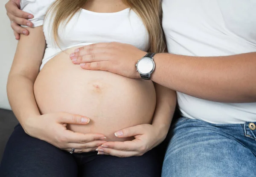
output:
M32 137L75 152L95 150L105 141L103 134L81 134L67 130L67 123L87 124L89 119L68 113L40 115L33 85L44 55L45 39L42 26L28 28L30 35L21 35L7 83L12 110L21 126ZM88 142L90 142L88 144ZM87 148L84 148L87 147Z

